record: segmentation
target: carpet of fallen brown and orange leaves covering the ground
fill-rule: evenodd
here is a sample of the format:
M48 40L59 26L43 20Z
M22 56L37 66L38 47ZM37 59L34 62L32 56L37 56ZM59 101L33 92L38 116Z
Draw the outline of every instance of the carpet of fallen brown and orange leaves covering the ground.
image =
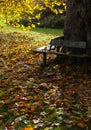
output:
M42 57L31 50L43 44L0 32L0 128L90 130L91 74L64 64L41 68Z

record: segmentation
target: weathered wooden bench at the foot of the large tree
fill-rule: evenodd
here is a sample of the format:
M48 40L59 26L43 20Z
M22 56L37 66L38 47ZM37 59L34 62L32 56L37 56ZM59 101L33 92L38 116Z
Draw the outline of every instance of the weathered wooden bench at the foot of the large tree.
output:
M53 44L53 46L54 47L52 47L52 45L49 44L48 46L39 47L33 50L33 53L39 53L43 55L44 66L47 63L47 54L63 55L84 59L91 57L91 54L88 54L87 52L87 43L85 41L60 40L60 44L58 43L58 46L56 45L56 48L55 44Z

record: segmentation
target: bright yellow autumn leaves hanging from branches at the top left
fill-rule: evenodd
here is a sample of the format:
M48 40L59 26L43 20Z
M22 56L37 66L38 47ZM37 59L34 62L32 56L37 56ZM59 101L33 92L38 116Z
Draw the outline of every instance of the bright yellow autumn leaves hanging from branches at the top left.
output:
M61 6L64 9L60 9ZM0 2L0 18L3 18L6 23L17 25L20 19L39 19L41 11L46 7L50 8L55 14L59 14L66 9L66 2L65 0L4 0ZM36 10L38 13L35 13ZM25 29L23 26L21 27ZM31 28L35 28L35 25L31 24L29 29Z

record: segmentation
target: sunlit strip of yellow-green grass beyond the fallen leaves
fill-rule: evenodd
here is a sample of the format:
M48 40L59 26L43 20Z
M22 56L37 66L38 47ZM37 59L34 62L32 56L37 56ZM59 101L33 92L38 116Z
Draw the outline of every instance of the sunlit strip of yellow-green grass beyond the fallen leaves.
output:
M32 30L23 30L19 27L8 26L4 24L2 21L0 21L0 31L5 31L7 33L9 32L25 33L27 36L29 35L35 36L37 41L41 40L44 41L52 37L63 35L63 29L34 28Z

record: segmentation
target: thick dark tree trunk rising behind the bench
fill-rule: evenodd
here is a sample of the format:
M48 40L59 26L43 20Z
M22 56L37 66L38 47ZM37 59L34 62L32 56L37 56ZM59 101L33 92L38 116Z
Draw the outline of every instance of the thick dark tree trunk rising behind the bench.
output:
M66 0L64 39L91 44L91 0Z

